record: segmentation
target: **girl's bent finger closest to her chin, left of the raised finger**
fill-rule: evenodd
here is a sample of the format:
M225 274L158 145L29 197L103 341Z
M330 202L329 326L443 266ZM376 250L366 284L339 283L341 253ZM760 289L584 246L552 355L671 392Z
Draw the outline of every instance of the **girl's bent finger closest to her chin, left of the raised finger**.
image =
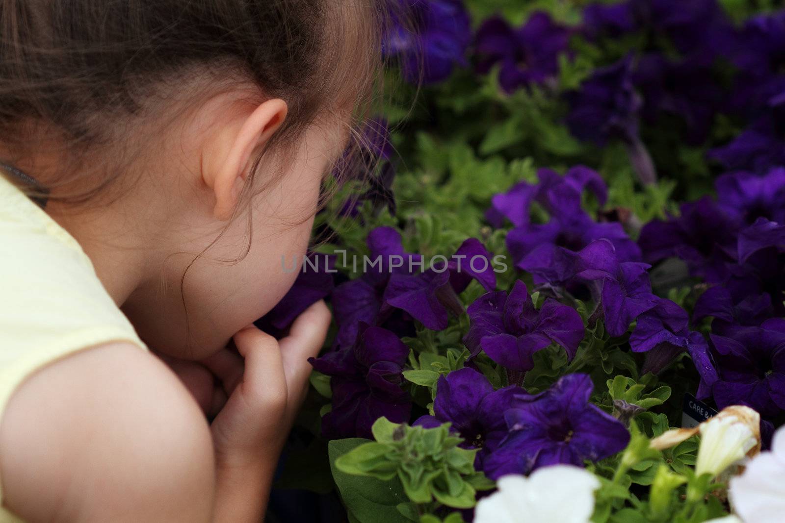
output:
M287 380L278 340L253 324L237 332L234 340L245 358L243 394L259 401L279 401L283 393L285 401Z

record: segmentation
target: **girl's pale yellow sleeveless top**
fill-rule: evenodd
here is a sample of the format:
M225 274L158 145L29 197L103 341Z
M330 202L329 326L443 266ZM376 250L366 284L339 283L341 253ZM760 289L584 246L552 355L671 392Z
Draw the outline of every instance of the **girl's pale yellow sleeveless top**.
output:
M147 349L79 243L0 173L0 419L31 373L115 341ZM0 485L6 521L20 520L2 508Z

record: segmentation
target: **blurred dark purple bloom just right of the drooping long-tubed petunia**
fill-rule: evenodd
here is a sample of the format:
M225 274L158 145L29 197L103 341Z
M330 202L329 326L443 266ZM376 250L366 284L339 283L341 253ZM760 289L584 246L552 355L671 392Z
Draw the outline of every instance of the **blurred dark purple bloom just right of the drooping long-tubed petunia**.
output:
M647 122L670 114L684 122L688 143L697 145L707 139L724 101L710 64L693 58L673 62L649 53L638 60L633 78L643 95L641 116Z

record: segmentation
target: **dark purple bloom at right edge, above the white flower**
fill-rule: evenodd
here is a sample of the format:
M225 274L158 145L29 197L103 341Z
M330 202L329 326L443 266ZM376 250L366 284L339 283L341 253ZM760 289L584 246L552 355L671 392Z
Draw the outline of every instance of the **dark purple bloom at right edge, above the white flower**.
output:
M749 405L761 416L785 409L785 327L780 318L760 327L728 327L712 334L719 378L712 387L714 401Z

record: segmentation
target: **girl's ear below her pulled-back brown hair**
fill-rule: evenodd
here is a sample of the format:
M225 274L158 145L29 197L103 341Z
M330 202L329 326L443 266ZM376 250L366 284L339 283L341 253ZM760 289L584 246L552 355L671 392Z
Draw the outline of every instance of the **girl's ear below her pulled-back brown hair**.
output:
M253 112L223 130L213 149L214 162L203 170L204 181L215 195L213 214L217 220L229 220L237 206L240 192L249 173L251 155L270 140L287 117L287 103L279 98L267 100ZM222 149L222 151L221 151ZM215 161L220 163L215 163Z

